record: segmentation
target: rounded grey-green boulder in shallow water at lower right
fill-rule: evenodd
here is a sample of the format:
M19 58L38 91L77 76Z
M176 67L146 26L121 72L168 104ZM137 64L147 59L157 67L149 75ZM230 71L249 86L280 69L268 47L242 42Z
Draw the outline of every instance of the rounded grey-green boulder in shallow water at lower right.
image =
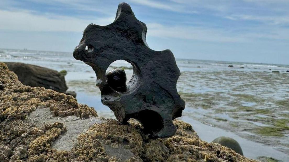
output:
M233 138L222 136L222 137L218 137L218 138L214 139L212 142L229 147L232 150L236 151L238 154L243 155L243 151L242 151L240 144L236 140L234 140Z

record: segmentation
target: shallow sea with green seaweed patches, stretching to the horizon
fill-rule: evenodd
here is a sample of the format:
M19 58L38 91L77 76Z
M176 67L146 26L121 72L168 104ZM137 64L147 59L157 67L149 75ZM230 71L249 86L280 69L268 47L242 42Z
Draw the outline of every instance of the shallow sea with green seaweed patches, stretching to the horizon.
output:
M95 72L72 52L0 48L0 61L66 70L68 91L77 93L79 103L95 108L99 116L115 118L101 103ZM176 63L181 71L177 90L186 101L178 119L190 123L202 140L231 137L246 157L289 161L289 65L192 59ZM116 67L124 67L128 82L131 64L118 60L108 70Z

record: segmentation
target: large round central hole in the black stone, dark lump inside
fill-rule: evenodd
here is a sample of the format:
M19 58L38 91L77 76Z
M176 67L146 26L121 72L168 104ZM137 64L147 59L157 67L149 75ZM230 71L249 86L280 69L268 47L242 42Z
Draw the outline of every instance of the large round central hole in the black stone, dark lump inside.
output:
M134 69L131 63L125 60L117 60L110 64L105 73L110 87L116 91L124 92L134 74Z

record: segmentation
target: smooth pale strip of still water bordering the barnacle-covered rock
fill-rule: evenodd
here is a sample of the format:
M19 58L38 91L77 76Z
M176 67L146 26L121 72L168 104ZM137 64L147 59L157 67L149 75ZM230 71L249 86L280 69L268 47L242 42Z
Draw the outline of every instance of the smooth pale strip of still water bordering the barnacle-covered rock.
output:
M109 107L101 103L100 95L86 95L83 92L78 92L77 94L80 94L77 96L77 101L79 103L94 107L100 116L115 119L115 116L113 112L109 109ZM192 108L186 109L191 110ZM237 135L236 132L231 132L234 130L224 129L224 127L219 127L219 125L212 126L208 123L203 123L204 121L201 120L201 118L187 116L186 109L184 110L182 117L177 119L183 120L184 122L192 125L193 129L197 132L199 137L206 142L211 142L212 140L220 136L231 137L239 142L243 150L244 156L251 159L257 160L257 157L262 156L273 157L284 162L288 159L288 154L278 150L278 148L276 147L270 146L269 144L263 144L254 140L254 138L251 138L249 134L243 133Z

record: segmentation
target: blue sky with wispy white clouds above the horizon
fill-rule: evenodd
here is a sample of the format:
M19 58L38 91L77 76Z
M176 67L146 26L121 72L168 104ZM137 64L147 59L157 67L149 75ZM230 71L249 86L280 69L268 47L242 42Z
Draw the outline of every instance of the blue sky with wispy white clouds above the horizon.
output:
M0 0L0 48L73 52L115 0ZM127 0L153 50L176 58L289 64L289 0Z

